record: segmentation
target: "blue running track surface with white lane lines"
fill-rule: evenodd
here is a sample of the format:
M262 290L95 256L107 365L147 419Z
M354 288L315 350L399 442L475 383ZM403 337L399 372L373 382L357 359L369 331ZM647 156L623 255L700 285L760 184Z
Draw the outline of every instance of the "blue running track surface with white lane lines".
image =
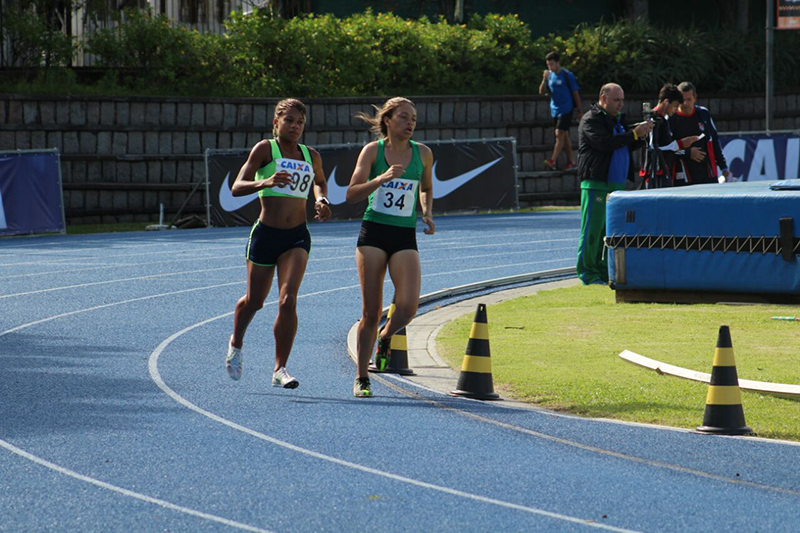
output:
M423 293L575 264L576 211L436 222ZM311 226L295 390L270 386L275 294L224 369L248 228L1 240L0 531L798 528L797 446L353 398L358 228Z

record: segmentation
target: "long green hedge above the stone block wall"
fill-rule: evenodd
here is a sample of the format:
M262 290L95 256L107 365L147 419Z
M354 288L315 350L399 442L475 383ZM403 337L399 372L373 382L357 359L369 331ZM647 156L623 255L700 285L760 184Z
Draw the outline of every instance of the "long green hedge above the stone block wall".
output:
M174 27L146 11L118 16L118 28L95 32L85 46L109 67L100 88L72 83L61 90L259 97L532 94L551 50L561 53L585 95L608 81L650 94L665 81L683 80L705 93L764 88L762 32L618 21L534 39L516 15L473 15L467 24L453 25L372 11L344 19L281 19L256 10L233 13L220 36ZM798 49L799 32L777 32L779 90L800 88Z

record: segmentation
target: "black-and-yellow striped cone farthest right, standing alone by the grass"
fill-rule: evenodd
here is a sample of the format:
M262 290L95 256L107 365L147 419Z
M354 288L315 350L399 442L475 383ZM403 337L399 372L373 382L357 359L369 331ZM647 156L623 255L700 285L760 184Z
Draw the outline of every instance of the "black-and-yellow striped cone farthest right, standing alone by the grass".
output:
M706 396L706 412L701 433L717 435L746 435L753 430L745 425L742 393L733 359L733 344L728 326L720 326L714 365Z

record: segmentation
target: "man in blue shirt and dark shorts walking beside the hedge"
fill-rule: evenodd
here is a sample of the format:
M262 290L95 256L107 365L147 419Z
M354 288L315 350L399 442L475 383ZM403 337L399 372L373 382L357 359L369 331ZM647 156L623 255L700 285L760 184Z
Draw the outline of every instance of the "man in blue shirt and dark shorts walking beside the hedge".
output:
M561 68L561 57L557 52L550 52L545 56L547 70L542 73L542 83L539 85L539 94L545 90L550 92L550 116L556 127L556 145L553 148L553 157L546 159L544 166L556 170L556 162L561 151L567 152L565 171L576 168L575 158L572 153L572 141L569 138L569 127L572 116L577 109L581 115L581 95L578 81L569 70Z

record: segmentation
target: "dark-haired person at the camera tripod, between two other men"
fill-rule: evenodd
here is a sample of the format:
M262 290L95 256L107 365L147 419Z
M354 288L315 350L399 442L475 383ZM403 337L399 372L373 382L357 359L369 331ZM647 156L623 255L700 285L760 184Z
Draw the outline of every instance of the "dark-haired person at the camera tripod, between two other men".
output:
M658 93L655 109L651 110L649 102L642 104L642 115L645 120L652 120L654 123L653 131L644 148L642 168L639 171L645 189L671 187L675 177L675 152L691 146L698 139L697 135L690 135L676 140L672 135L668 119L675 114L682 103L681 91L671 83L667 83Z

